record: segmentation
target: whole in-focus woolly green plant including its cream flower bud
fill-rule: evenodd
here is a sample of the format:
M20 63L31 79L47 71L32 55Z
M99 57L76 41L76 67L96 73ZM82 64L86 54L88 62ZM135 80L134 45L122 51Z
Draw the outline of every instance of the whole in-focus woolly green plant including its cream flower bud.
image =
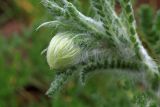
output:
M116 0L90 0L98 16L95 19L84 15L68 0L42 0L54 20L38 29L52 27L59 32L47 48L50 68L61 71L51 83L48 95L59 90L73 74L84 78L101 68L143 72L149 80L148 86L154 80L159 82L157 63L143 47L136 31L131 1L118 2L122 8L120 14L114 8Z

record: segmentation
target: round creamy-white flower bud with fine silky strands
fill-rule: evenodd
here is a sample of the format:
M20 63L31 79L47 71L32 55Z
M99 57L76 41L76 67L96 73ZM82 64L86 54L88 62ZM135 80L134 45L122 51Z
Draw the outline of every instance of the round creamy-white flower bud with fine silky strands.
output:
M74 44L71 33L55 35L47 50L47 62L51 69L64 69L76 63L80 48Z

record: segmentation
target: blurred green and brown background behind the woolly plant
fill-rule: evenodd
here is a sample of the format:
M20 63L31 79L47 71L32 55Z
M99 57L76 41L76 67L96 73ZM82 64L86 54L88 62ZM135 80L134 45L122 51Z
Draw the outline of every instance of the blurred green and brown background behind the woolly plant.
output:
M79 9L89 14L87 0L78 1ZM160 1L137 0L134 5L141 38L152 47L157 39L146 35L153 33L149 29ZM74 81L69 81L61 92L48 98L45 92L54 79L54 71L41 51L47 47L54 29L36 28L51 19L40 0L0 0L0 107L132 107L131 102L137 103L138 98L145 103L147 92L142 83L132 85L129 77L117 78L119 75L113 73L96 74L85 86L72 78ZM158 57L160 50L155 53Z

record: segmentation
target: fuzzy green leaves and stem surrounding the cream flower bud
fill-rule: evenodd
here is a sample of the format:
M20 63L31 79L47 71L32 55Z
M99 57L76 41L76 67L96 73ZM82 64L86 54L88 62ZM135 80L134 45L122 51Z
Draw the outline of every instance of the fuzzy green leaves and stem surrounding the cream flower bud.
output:
M92 15L88 16L67 0L42 0L42 4L52 14L53 20L43 23L38 29L52 27L57 33L64 33L64 38L68 38L65 32L69 32L72 34L71 38L74 38L74 45L80 48L76 63L63 70L55 69L58 72L56 72L55 80L47 91L47 95L52 96L73 75L80 74L80 80L84 83L88 74L103 69L105 72L112 70L113 72L114 70L131 72L128 75L131 77L133 73L143 74L147 81L147 89L151 92L154 90L153 93L156 96L159 87L158 63L141 42L130 0L119 0L118 2L116 0L90 0ZM116 11L116 4L120 4L120 13ZM152 16L144 11L148 11L148 8L142 9L143 17ZM145 26L142 30L146 35L155 35L153 38L148 35L147 40L155 46L156 50L159 47L158 41L156 43L151 41L159 38L157 30L160 27L159 12L154 21L156 24L146 23L148 20L151 19L141 20L141 24ZM150 25L153 26L152 29ZM47 54L48 50L50 49L46 49ZM58 47L55 48L52 54L58 57L56 53L58 50ZM62 57L58 58L64 60Z

